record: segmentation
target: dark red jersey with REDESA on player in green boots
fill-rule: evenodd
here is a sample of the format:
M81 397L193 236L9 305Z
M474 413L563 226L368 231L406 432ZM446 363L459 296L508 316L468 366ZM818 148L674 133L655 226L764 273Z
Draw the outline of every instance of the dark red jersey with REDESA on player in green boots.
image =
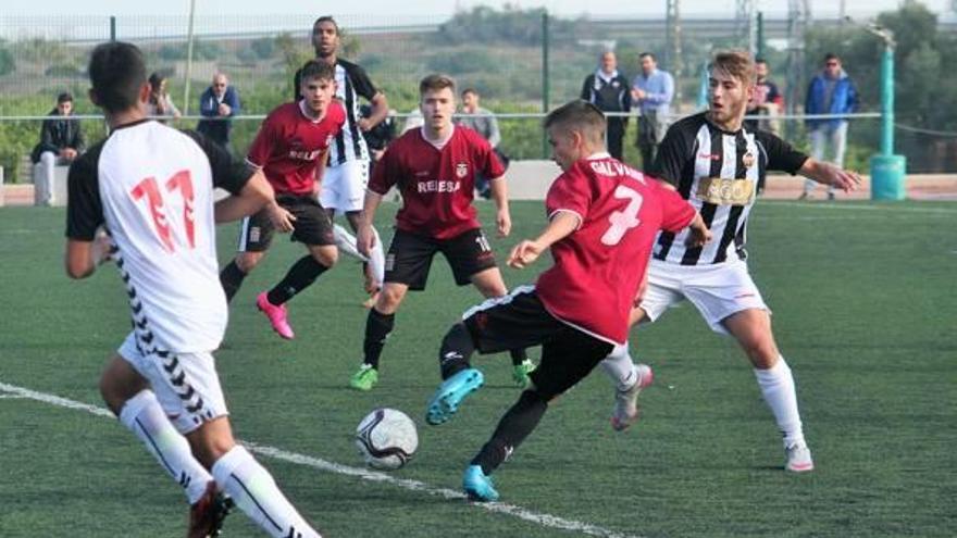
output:
M439 150L412 129L391 142L372 172L369 190L385 195L399 186L402 209L396 227L448 239L481 227L472 207L475 174L495 178L505 167L492 146L474 130L456 125Z

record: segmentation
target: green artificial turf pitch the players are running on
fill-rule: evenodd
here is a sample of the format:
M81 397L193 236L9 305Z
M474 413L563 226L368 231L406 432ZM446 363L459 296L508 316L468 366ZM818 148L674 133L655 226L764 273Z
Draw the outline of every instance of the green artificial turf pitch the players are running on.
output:
M539 203L515 203L513 216L499 253L544 222ZM183 536L179 488L103 416L97 391L129 326L121 281L112 267L65 277L63 222L62 210L0 209L0 536ZM486 388L451 423L424 424L439 340L477 301L440 259L430 289L399 311L374 391L346 388L365 318L355 262L290 302L294 341L256 311L254 295L301 255L283 240L232 305L219 370L237 435L326 536L954 536L955 228L953 203L758 203L750 266L798 383L817 464L806 475L782 471L742 353L683 305L632 334L657 374L637 426L611 430L611 389L596 372L497 473L508 504L456 497L518 391L506 355L478 358ZM221 261L235 235L221 228ZM545 263L506 279L531 281ZM364 472L352 445L380 405L420 425L415 459L387 476ZM225 536L261 535L237 513Z

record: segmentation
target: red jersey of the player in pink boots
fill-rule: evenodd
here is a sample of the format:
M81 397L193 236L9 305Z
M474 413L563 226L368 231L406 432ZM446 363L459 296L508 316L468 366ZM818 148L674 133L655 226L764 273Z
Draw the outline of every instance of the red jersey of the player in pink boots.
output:
M261 167L277 195L309 195L319 155L346 122L346 109L330 103L325 117L311 120L300 102L281 104L262 122L246 161Z

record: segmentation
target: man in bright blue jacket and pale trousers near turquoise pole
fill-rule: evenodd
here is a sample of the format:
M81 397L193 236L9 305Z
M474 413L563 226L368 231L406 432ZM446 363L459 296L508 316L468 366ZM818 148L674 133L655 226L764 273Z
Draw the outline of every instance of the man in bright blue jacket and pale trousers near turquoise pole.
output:
M824 55L824 67L808 86L804 111L806 114L850 114L857 110L857 88L847 72L841 66L841 58L833 52ZM824 153L830 148L831 161L837 167L844 167L844 151L847 149L847 118L807 120L808 134L811 138L811 157L824 161ZM816 182L808 179L804 184L800 200L810 198ZM834 188L828 187L828 199L834 199Z

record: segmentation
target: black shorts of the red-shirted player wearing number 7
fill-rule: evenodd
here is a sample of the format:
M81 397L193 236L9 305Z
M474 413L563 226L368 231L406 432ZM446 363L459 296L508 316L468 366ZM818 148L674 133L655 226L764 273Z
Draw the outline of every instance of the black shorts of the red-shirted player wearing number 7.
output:
M474 306L463 323L483 354L540 345L542 362L529 377L546 400L584 379L614 348L549 314L533 286Z

